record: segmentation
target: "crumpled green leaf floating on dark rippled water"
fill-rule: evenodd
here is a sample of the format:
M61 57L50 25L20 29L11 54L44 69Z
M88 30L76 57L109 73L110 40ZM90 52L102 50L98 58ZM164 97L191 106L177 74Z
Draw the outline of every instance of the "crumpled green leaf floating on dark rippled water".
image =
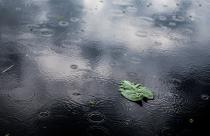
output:
M154 99L154 95L150 89L127 80L120 82L119 91L130 101L141 101L143 98Z

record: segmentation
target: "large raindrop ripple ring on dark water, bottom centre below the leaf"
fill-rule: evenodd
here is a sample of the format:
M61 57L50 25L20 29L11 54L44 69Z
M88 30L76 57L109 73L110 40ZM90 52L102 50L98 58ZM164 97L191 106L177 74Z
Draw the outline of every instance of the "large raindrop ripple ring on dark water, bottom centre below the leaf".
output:
M101 123L104 119L104 115L97 111L88 114L88 121L92 123Z

